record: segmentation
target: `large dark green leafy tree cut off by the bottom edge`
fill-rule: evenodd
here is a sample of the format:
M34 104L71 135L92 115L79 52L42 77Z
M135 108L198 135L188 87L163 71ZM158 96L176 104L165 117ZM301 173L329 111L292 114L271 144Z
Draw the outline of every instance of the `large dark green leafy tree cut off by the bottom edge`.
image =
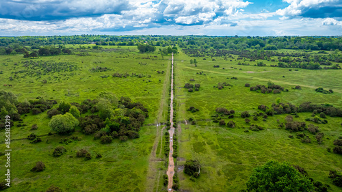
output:
M248 191L311 191L313 183L286 161L267 161L253 169L247 182Z

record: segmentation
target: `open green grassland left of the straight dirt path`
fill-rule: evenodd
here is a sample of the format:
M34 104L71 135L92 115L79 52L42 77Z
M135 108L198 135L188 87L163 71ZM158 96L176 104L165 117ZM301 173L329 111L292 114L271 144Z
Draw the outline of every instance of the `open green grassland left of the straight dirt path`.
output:
M105 50L105 48L113 50ZM135 102L141 102L149 111L149 118L144 124L166 122L166 99L168 90L168 76L157 71L168 70L168 59L161 59L158 53L141 54L136 46L105 47L103 51L89 50L90 56L58 55L39 57L37 59L23 59L22 55L1 56L0 74L2 84L12 84L12 87L1 87L1 90L13 92L18 100L30 100L41 96L55 99L57 102L81 102L84 99L94 99L100 92L113 92L120 96L128 96ZM77 53L77 52L76 52ZM155 57L157 56L157 57ZM150 57L150 59L142 59ZM73 72L50 72L46 75L16 74L12 72L24 70L21 61L53 61L75 64L79 70ZM14 65L14 64L17 65ZM91 72L96 66L106 67L106 72ZM42 70L40 70L42 71ZM118 72L142 74L144 77L111 77ZM149 77L150 75L150 77ZM101 76L109 76L101 78ZM13 81L9 81L13 77ZM46 79L47 83L42 83ZM56 106L55 106L56 107ZM141 137L127 142L114 140L113 143L103 145L94 140L92 135L84 135L79 128L73 136L81 141L62 144L61 139L71 136L47 135L51 132L47 113L38 115L22 115L27 126L12 127L12 187L7 191L45 191L54 184L63 191L145 191L146 186L155 187L155 180L147 180L148 164L155 140L158 140L156 126L143 126ZM37 124L36 131L30 131L31 125ZM42 136L42 142L29 143L27 136L36 133ZM3 131L0 137L5 138ZM158 139L156 139L158 138ZM66 154L53 157L56 146L64 146ZM5 145L1 144L1 151ZM92 154L92 159L85 161L77 158L77 150L85 148ZM102 158L96 159L97 153ZM0 157L0 164L4 165L5 156ZM44 172L34 173L30 169L37 161L42 161L47 168ZM1 166L1 170L4 167ZM152 182L152 184L150 184Z

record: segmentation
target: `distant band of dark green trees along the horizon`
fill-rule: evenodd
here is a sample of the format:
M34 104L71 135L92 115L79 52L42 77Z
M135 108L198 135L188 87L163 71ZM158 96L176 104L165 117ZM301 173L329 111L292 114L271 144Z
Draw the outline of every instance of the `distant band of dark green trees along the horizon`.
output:
M342 37L211 37L211 36L23 36L0 38L0 54L10 54L5 47L16 50L19 46L40 46L55 44L96 44L137 46L146 43L151 46L176 46L183 49L306 49L342 51ZM2 46L2 47L1 47ZM19 51L20 52L20 51Z

